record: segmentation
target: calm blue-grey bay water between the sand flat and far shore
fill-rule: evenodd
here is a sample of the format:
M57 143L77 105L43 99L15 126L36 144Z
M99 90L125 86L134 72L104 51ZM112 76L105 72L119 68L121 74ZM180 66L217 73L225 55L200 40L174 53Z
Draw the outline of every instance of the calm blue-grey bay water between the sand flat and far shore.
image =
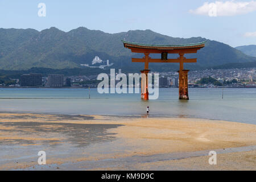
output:
M189 101L178 89L160 89L158 100L140 94L98 94L84 88L0 88L0 111L19 113L99 114L221 119L256 124L256 89L189 89Z

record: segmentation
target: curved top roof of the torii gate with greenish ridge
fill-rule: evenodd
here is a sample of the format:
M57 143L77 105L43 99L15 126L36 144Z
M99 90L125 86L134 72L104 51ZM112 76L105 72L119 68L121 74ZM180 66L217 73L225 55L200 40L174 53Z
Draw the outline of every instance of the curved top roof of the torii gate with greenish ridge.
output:
M203 48L205 46L204 42L192 43L192 44L174 44L174 45L159 45L159 44L142 44L142 43L134 43L127 42L122 40L123 46L126 48L141 48L141 49L156 49L156 50L174 50L174 49L189 49L189 48Z

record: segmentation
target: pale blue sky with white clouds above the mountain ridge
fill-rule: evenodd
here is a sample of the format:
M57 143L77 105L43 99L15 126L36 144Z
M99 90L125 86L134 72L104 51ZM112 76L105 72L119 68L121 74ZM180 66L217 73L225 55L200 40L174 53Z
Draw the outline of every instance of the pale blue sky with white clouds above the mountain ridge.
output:
M38 15L39 3L46 5L45 17ZM256 44L256 1L0 0L1 28L70 31L81 26L109 33L150 29L243 46Z

